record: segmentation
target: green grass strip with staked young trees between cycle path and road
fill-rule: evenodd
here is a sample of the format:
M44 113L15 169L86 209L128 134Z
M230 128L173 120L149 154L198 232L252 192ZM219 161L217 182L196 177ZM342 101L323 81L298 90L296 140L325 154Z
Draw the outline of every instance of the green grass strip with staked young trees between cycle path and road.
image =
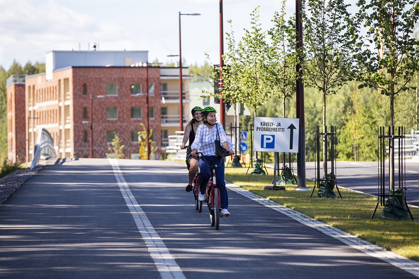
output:
M246 171L247 168L225 168L225 180L408 259L419 261L419 222L410 219L371 220L377 198L340 188L343 199L310 199L311 191L293 191L295 185L286 185L286 191L266 191L263 187L272 183L273 169L268 169L270 175L259 176L246 175ZM307 180L306 183L307 187L313 189L313 181ZM339 197L336 188L335 193ZM317 197L317 189L313 197ZM375 216L379 217L382 210L383 207L379 205ZM411 207L410 210L414 218L419 218L418 208Z

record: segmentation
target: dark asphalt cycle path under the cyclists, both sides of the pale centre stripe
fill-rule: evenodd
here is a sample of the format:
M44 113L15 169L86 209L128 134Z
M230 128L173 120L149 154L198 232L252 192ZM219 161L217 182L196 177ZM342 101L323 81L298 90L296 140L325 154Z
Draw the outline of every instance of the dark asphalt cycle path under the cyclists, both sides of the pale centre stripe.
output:
M229 190L220 230L180 162L118 160L186 278L416 278ZM160 278L106 159L45 166L0 205L4 278Z

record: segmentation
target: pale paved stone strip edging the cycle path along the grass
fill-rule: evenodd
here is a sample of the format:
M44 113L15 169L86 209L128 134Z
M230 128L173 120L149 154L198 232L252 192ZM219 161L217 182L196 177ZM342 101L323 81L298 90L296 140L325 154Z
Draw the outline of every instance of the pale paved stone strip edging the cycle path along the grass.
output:
M358 249L366 253L367 255L381 259L385 262L388 262L389 264L392 264L393 266L397 266L398 268L413 274L416 277L419 277L419 262L417 261L406 259L403 256L397 255L396 253L385 250L380 246L374 245L368 241L358 238L355 235L351 235L349 233L344 232L343 230L339 230L338 228L332 227L331 225L327 225L323 222L313 219L310 216L305 215L301 212L292 210L291 208L280 205L272 200L253 194L252 192L238 187L228 181L226 181L225 184L225 186L228 189L240 195L248 197L249 199L259 202L260 204L266 207L281 212L282 214L285 214L288 217L297 220L298 222L304 225L319 230L322 233L330 237L333 237L347 244L348 246L351 246L352 248Z

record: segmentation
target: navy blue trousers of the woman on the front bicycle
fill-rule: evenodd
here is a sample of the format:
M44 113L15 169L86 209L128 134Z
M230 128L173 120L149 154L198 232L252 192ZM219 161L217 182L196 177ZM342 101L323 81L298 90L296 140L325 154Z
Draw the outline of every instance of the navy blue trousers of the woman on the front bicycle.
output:
M205 156L205 159L207 160L207 164L211 162L212 164L218 165L220 164L220 157L215 156ZM198 161L199 166L199 190L201 191L201 194L205 193L205 188L207 187L207 183L209 179L211 178L211 174L209 172L209 167L205 164L204 160L202 158L199 158ZM225 188L225 181L224 181L224 159L221 160L221 165L214 170L215 172L215 178L217 183L217 188L220 191L220 204L221 209L228 207L228 194L227 194L227 188Z

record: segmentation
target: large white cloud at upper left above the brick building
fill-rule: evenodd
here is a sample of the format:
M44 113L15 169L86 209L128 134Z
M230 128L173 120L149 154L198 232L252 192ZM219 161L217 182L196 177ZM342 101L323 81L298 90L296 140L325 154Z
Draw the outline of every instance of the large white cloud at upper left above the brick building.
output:
M21 63L44 61L46 51L78 48L75 42L124 41L128 37L113 21L97 21L52 1L33 5L26 0L0 0L0 34L0 64L5 67L13 58Z

